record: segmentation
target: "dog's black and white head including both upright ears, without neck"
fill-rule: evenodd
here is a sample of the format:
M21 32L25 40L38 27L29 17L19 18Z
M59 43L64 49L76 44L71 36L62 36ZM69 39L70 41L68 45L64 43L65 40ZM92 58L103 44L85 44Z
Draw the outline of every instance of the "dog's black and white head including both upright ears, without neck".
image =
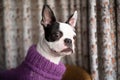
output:
M74 52L76 20L77 11L66 23L57 22L51 8L48 5L43 7L41 23L44 27L45 40L50 50L56 55L64 56Z

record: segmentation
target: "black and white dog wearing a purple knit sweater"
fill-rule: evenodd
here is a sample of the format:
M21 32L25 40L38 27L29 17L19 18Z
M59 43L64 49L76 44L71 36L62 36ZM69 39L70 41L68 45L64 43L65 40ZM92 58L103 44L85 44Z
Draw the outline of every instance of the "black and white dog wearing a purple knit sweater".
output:
M56 20L49 5L44 5L41 20L44 34L37 45L30 47L20 66L0 72L0 80L61 80L65 66L60 60L75 52L76 22L77 11L63 23Z

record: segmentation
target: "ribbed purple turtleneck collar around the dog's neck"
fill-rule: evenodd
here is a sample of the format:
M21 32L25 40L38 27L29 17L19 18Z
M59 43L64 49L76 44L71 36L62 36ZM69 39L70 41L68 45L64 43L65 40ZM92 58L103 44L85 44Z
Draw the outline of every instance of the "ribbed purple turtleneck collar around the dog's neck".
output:
M28 63L29 66L38 73L41 71L49 76L60 78L65 72L65 66L62 63L54 64L44 58L40 53L36 50L36 46L33 45L29 48L27 56L25 58L25 63Z

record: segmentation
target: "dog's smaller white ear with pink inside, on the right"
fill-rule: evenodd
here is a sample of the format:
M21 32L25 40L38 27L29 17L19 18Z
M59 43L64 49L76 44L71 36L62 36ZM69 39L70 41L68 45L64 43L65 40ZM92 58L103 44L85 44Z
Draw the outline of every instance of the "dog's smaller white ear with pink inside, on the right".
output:
M72 14L68 20L66 21L66 23L70 24L72 27L75 27L77 22L77 11L74 12L74 14Z

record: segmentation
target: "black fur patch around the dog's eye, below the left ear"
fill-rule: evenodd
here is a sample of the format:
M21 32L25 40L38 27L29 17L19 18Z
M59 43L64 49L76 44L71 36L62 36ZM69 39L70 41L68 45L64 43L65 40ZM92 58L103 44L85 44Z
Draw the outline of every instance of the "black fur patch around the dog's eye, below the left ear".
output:
M63 33L59 30L59 25L58 22L54 22L53 24L44 27L45 39L48 42L58 41L63 36Z

